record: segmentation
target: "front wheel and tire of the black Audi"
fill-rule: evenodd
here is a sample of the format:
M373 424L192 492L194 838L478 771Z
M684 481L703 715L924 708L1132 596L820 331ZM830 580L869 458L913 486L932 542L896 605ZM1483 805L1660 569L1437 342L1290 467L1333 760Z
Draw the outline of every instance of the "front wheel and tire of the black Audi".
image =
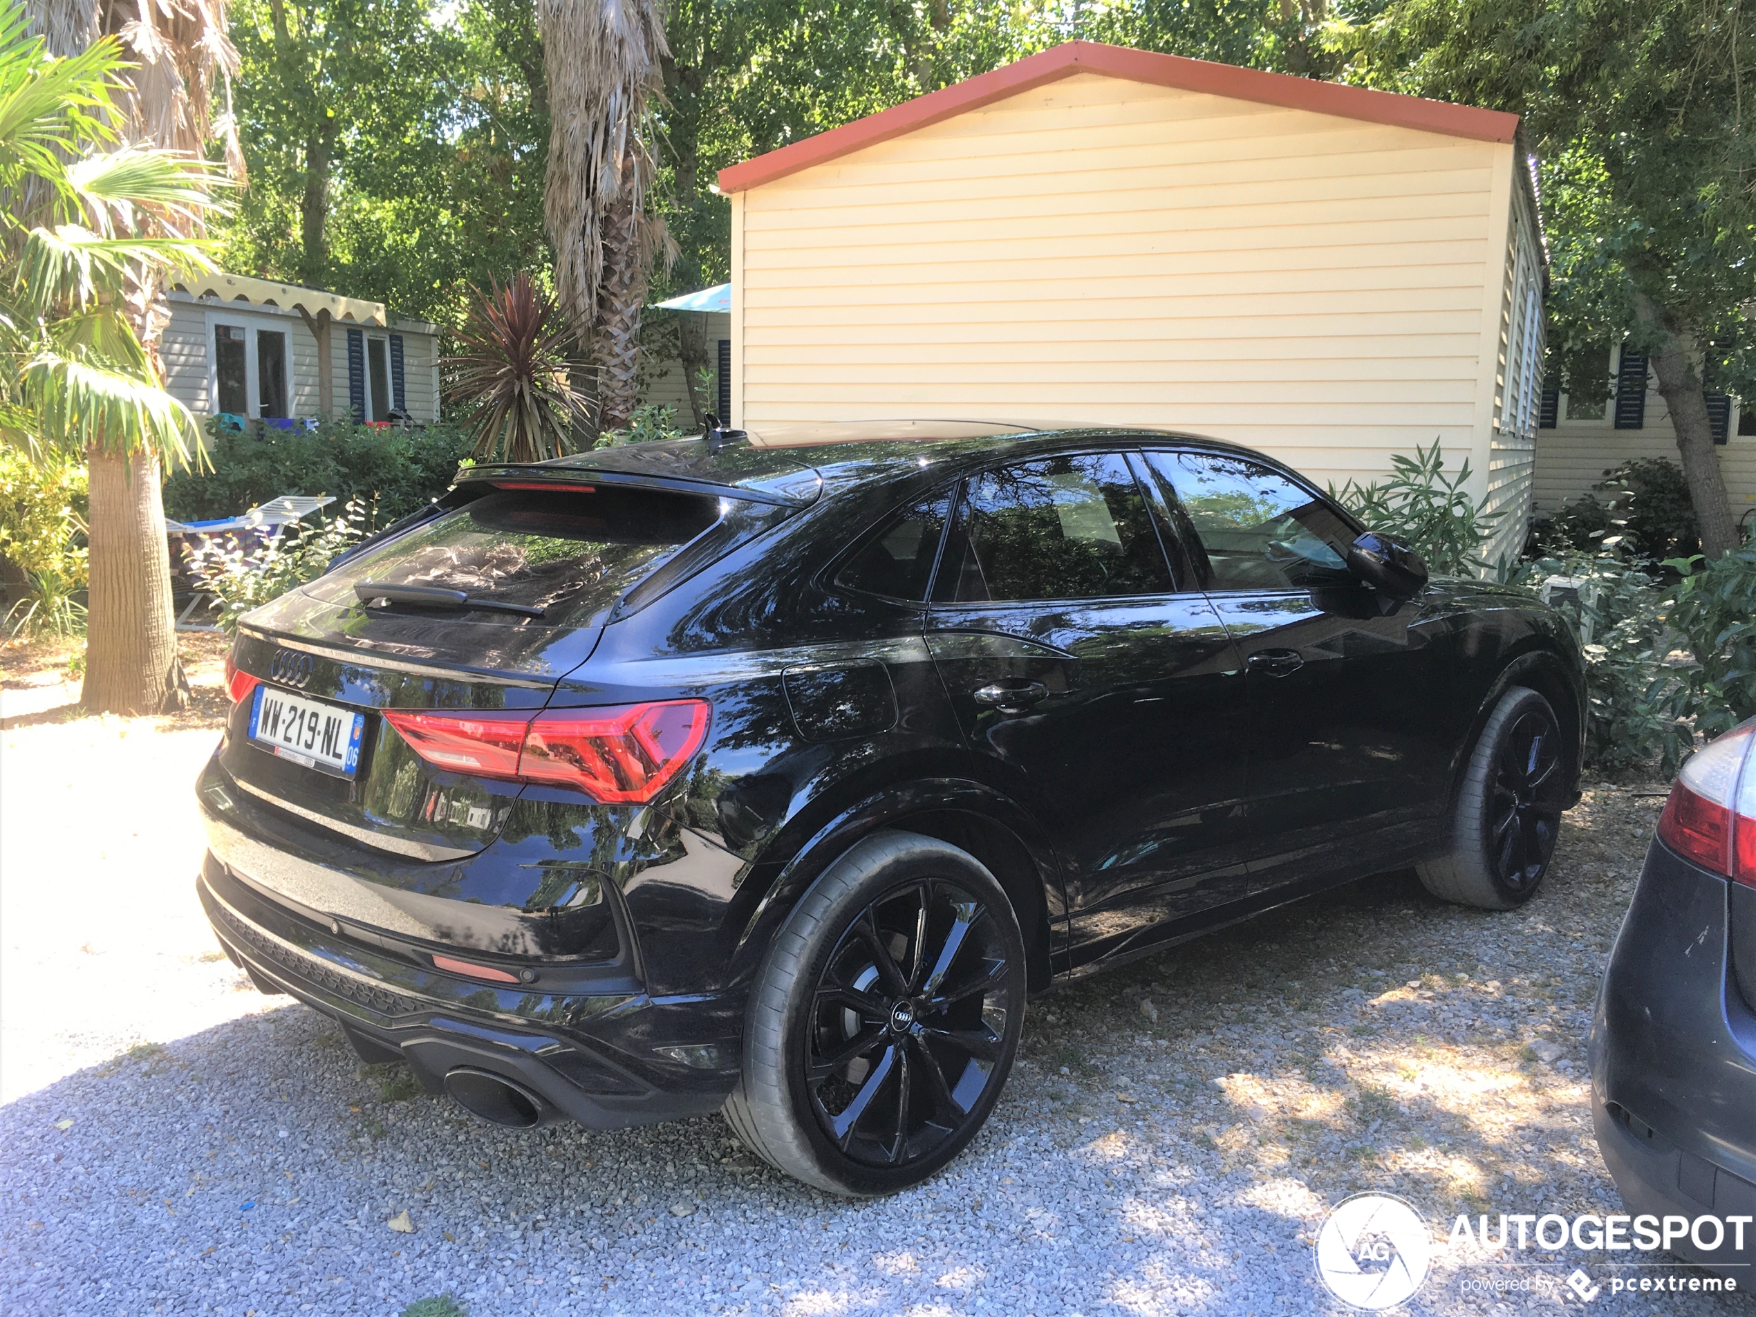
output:
M1549 701L1508 687L1465 766L1452 850L1415 866L1421 883L1459 906L1522 906L1549 871L1570 778L1570 753Z

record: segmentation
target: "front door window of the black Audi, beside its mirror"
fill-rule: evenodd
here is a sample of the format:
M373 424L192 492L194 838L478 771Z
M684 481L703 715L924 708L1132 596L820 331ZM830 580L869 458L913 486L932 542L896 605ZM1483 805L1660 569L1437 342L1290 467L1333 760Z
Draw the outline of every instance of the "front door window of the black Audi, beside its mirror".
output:
M1210 590L1305 590L1352 579L1354 529L1278 471L1224 453L1148 453L1206 553Z

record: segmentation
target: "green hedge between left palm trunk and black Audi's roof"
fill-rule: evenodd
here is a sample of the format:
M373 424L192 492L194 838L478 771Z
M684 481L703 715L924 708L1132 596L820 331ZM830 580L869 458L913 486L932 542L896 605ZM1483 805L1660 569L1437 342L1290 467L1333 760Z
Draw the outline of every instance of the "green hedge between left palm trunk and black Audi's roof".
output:
M421 430L323 421L316 430L221 430L209 425L212 471L165 481L165 516L205 522L235 516L283 493L358 502L367 532L397 522L451 486L469 455L453 425Z

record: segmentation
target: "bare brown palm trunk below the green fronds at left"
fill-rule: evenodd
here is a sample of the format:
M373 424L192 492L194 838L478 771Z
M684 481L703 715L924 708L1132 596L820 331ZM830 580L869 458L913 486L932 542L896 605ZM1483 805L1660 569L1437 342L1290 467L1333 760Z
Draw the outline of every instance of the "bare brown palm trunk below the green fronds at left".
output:
M91 595L86 683L91 713L169 713L188 704L170 611L170 555L158 458L88 450Z

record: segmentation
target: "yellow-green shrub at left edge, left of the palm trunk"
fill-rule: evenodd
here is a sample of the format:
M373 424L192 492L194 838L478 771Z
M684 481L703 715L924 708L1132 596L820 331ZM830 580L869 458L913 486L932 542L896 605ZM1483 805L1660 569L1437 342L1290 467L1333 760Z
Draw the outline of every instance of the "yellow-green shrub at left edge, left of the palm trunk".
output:
M4 625L19 636L83 636L86 469L0 448L0 558L23 583Z

